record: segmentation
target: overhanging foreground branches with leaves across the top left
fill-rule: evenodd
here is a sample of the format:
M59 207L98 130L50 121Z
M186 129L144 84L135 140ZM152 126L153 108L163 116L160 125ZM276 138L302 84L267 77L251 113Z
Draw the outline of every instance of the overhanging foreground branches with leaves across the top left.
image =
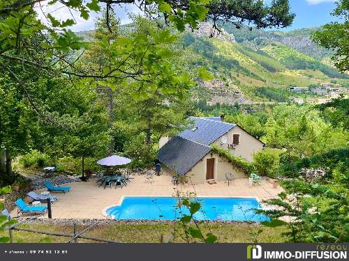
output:
M74 61L71 61L71 54L81 49L81 39L72 31L66 29L73 25L74 19L60 21L49 13L43 15L49 22L43 24L36 15L35 5L40 4L42 0L12 0L3 2L0 8L0 63L7 61L16 61L22 64L24 68L34 67L38 71L46 70L50 72L61 72L70 75L70 77L88 77L94 79L124 79L133 77L142 77L143 73L137 70L124 70L124 63L115 64L108 70L98 74L91 74L89 71L77 70ZM53 5L58 1L50 1ZM289 26L295 15L290 13L288 0L273 0L269 5L262 0L229 0L229 1L134 1L134 0L93 0L85 3L82 0L59 1L68 10L74 9L80 12L80 16L89 19L90 11L101 10L100 3L107 3L105 12L105 24L109 31L112 30L110 15L112 5L122 3L131 3L138 6L149 17L164 17L168 24L174 24L179 31L184 31L186 24L195 29L199 22L204 19L212 19L214 26L216 21L223 20L232 22L235 25L244 22L253 22L258 28L268 26ZM156 8L154 11L154 7ZM46 33L47 32L47 33ZM40 37L40 40L35 39ZM166 38L165 38L166 39ZM140 38L142 43L142 38ZM128 45L126 43L126 45ZM116 41L114 49L123 49L125 43L122 40ZM32 50L40 52L40 56L32 56ZM16 52L13 52L16 51ZM138 61L142 63L142 59ZM147 74L144 75L147 77ZM165 86L163 86L165 88Z

